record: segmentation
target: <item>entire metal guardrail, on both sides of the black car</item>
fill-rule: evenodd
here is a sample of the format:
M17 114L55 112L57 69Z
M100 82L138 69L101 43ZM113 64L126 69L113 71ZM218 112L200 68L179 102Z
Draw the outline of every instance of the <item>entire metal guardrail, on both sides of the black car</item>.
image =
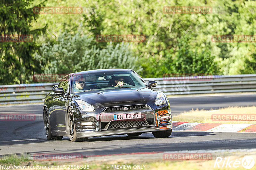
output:
M256 92L256 74L207 75L187 77L145 78L155 80L155 90L166 95ZM58 83L37 83L0 86L0 104L42 103L52 86Z

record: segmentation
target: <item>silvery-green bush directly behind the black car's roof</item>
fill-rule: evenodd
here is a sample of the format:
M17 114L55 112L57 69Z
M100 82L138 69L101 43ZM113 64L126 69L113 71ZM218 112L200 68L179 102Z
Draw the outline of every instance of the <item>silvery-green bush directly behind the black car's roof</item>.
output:
M130 68L141 71L136 62L138 57L134 56L129 44L114 46L110 43L100 49L92 45L92 40L87 35L81 35L81 32L75 35L64 32L55 44L43 44L40 54L36 53L36 58L46 65L44 73L68 74L102 68Z

